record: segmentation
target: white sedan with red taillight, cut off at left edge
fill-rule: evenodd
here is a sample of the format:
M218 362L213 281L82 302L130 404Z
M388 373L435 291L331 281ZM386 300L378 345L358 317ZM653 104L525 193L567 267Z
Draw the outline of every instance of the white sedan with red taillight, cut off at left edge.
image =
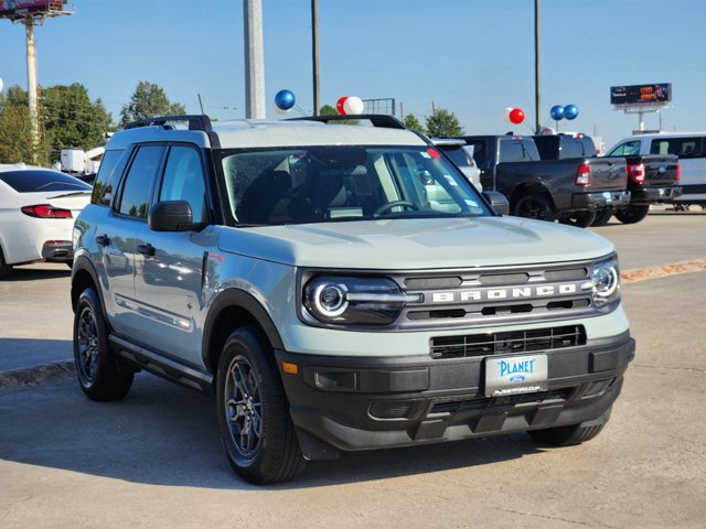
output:
M93 187L44 168L0 164L0 278L13 264L60 261L71 266L74 218Z

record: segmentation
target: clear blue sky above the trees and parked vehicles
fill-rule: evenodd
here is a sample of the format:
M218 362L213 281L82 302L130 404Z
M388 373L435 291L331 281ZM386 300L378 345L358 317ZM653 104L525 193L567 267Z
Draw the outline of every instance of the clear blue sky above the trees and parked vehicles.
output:
M82 83L115 120L139 80L197 112L242 118L242 0L73 0L36 30L44 86ZM263 0L266 94L288 88L312 109L310 0ZM431 104L467 133L503 133L504 107L534 123L533 0L319 0L321 101L394 97L424 121ZM638 118L612 110L612 85L672 83L665 130L706 129L706 0L542 0L541 121L575 104L563 128L609 147ZM24 28L0 21L0 77L26 87ZM657 128L648 115L646 128Z

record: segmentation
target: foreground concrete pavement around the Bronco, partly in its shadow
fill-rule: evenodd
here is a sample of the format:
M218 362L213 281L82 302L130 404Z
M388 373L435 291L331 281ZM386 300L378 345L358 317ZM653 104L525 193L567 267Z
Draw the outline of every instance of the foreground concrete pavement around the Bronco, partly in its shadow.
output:
M120 403L67 377L0 390L0 526L703 528L704 289L706 272L624 287L635 360L606 430L567 449L344 454L257 488L231 473L214 402L150 375Z

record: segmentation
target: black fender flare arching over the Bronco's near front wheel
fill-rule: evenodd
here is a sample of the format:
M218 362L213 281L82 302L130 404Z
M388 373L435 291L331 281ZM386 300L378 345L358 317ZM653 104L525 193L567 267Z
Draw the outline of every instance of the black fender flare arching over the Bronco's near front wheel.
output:
M257 301L257 299L255 299L253 294L244 290L235 288L227 289L221 292L211 304L208 309L208 315L206 316L206 322L203 328L201 354L204 366L206 366L206 369L208 371L215 373L216 367L211 365L210 359L210 344L212 342L214 333L217 332L215 325L223 311L228 309L240 309L247 312L265 332L267 339L275 349L285 348L282 339L279 335L279 331L277 330L275 322L272 321L269 313L265 310L263 304Z

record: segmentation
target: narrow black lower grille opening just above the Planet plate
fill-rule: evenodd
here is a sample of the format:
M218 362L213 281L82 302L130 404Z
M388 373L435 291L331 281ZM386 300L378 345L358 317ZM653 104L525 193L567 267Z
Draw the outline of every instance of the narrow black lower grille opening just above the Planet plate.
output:
M431 338L431 358L462 358L586 345L582 325Z

